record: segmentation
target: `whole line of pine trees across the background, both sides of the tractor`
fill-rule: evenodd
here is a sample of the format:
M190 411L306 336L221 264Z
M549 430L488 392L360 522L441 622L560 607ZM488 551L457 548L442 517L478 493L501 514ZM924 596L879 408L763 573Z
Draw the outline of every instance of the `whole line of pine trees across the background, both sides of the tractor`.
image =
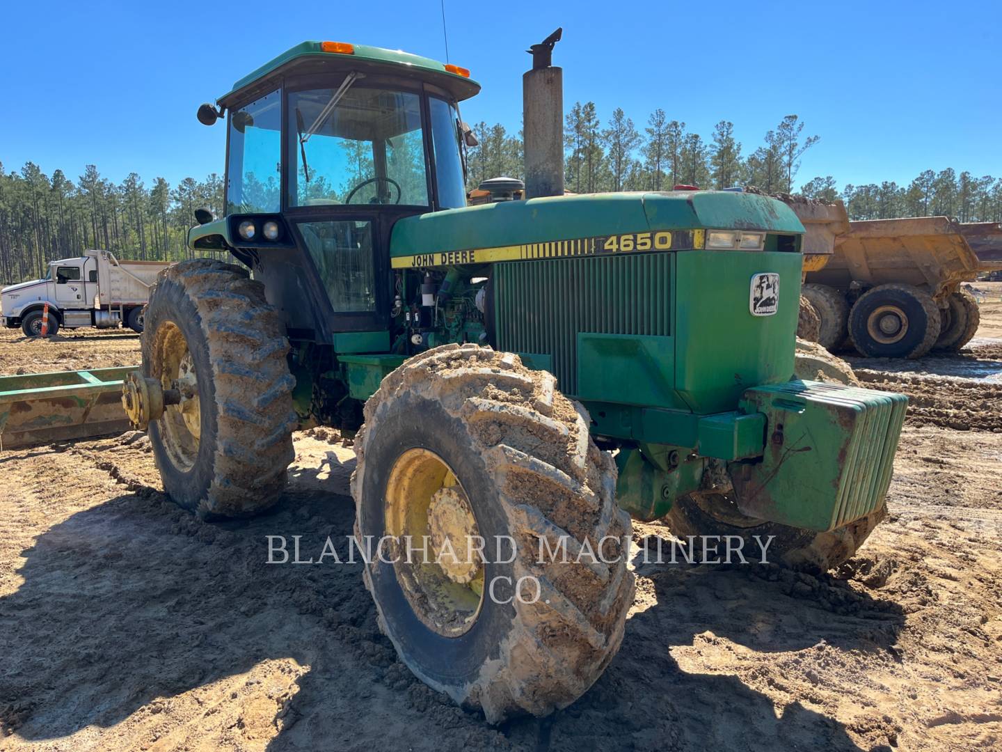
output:
M500 123L473 127L479 144L468 152L468 184L523 176L521 133ZM594 102L575 102L564 126L568 192L665 191L683 183L723 189L755 185L767 193L799 193L811 199L842 199L852 220L948 216L962 222L1002 222L1002 178L927 169L908 184L847 184L833 175L798 183L803 154L819 141L787 115L762 142L746 147L733 124L721 120L708 137L669 120L655 109L637 127L621 108L604 122ZM185 177L171 186L156 177L148 186L135 172L120 183L86 165L74 182L61 169L46 175L33 162L7 171L0 162L0 283L43 274L47 262L86 248L121 258L178 261L190 258L185 240L198 207L223 214L223 181Z

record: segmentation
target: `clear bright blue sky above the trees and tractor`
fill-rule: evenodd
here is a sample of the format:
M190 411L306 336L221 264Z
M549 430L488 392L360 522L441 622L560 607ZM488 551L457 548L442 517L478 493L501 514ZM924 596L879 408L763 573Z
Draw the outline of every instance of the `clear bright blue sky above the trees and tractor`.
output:
M603 120L622 106L639 128L662 107L708 137L725 118L746 152L797 113L821 135L800 181L1002 175L999 0L445 7L450 59L484 86L470 122L518 129L523 50L562 25L565 104L592 99ZM0 161L72 179L88 162L116 181L221 173L223 128L200 125L198 104L304 39L445 58L439 0L42 1L10 3L4 20Z

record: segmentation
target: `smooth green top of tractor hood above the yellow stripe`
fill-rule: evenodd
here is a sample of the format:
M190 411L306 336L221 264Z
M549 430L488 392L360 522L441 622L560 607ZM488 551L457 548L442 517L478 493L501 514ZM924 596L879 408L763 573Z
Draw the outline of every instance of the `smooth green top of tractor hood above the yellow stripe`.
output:
M725 191L593 194L501 202L410 217L394 227L390 254L402 258L707 229L804 233L790 207L766 196Z

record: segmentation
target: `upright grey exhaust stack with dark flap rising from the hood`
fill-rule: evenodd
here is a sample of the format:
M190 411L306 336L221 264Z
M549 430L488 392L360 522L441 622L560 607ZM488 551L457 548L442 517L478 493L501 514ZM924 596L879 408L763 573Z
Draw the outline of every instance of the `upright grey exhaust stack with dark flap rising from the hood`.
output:
M522 76L525 198L563 196L563 68L552 64L559 28L529 49L532 70Z

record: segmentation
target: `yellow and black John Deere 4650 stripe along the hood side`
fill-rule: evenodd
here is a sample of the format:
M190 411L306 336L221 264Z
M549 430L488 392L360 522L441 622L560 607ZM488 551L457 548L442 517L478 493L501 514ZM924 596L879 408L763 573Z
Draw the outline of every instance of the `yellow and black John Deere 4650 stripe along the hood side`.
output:
M548 243L529 243L524 246L478 248L469 251L436 251L428 254L398 256L391 260L394 269L423 269L426 267L454 267L466 264L493 264L499 261L524 261L527 259L564 259L576 256L611 256L651 251L691 251L701 249L702 230L685 230L669 233L625 233L599 238L576 238Z

